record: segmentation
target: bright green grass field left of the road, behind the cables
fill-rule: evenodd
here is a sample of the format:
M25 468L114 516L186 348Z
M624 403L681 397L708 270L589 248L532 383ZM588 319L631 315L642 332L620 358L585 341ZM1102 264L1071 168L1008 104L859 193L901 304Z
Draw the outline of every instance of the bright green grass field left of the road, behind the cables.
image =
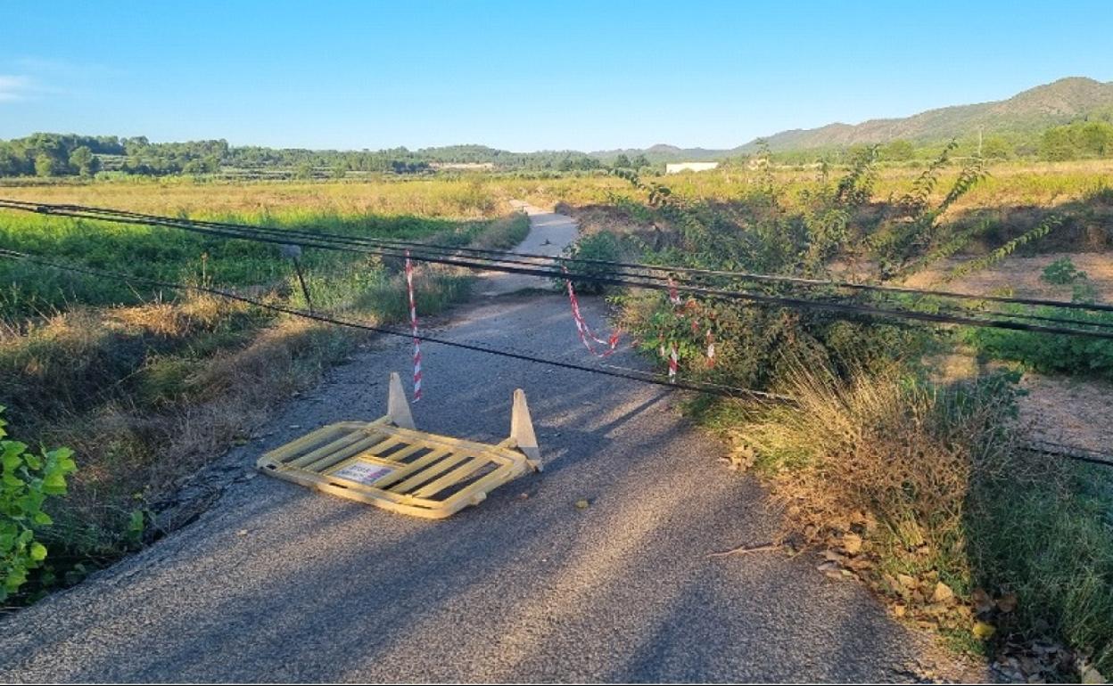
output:
M217 219L450 245L466 245L492 227L505 232L508 226L512 229L521 226L520 221L509 220L347 217L317 212L236 215ZM292 262L280 256L275 245L161 227L0 212L0 247L141 278L204 282L216 288L270 288L294 277ZM347 281L344 288L353 279L358 281L361 278L353 272L382 268L377 258L366 255L314 248L305 249L302 264L316 284ZM149 287L0 260L0 319L9 322L36 314L65 311L75 305L134 305L158 295ZM322 297L328 296L323 294Z

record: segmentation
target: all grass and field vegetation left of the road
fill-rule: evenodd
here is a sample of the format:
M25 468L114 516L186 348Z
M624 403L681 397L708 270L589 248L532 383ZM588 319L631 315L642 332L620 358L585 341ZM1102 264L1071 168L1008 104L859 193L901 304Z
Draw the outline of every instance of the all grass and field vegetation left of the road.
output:
M461 246L510 248L529 230L523 215L503 215L486 189L470 182L363 190L264 185L253 193L242 186L97 183L32 195L46 201ZM196 209L206 206L214 209ZM276 305L308 305L278 246L8 211L0 211L0 246L78 266L233 290ZM315 311L371 325L408 316L400 260L306 249L299 265ZM471 280L462 270L418 265L418 311L435 315L460 301ZM66 497L49 498L42 518L28 519L36 546L29 550L37 559L23 569L26 583L9 585L14 594L9 605L76 583L196 516L204 503L176 501L184 480L229 447L252 440L272 407L367 342L357 332L210 295L130 286L12 260L0 260L0 404L7 406L6 418L30 445L66 446L66 459L76 466L67 477ZM23 464L30 467L41 460L29 459ZM0 544L4 540L0 537ZM4 564L4 574L17 574L19 567Z

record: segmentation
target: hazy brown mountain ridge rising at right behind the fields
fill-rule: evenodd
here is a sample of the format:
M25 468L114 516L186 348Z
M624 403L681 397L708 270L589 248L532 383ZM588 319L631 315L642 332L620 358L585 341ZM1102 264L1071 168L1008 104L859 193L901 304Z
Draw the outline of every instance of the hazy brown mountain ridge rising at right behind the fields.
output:
M896 139L928 145L975 136L979 127L986 136L1035 133L1097 112L1113 112L1113 81L1102 83L1084 77L1068 77L1025 90L1007 100L944 107L912 117L870 119L858 125L829 123L818 129L792 129L767 136L765 140L775 152L846 148ZM646 155L652 162L671 162L721 159L750 153L757 148L757 140L754 140L730 150L657 145L643 150L604 150L590 155L600 159L613 158L620 152L631 158Z

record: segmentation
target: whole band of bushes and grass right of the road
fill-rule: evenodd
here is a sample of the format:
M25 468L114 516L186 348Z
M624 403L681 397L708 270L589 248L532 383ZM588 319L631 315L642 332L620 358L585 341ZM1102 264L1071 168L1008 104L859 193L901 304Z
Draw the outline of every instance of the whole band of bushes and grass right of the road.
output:
M1066 245L1080 226L1109 245L1107 190L1096 177L1072 181L1070 200L1042 198L1024 226L975 223L977 212L999 210L989 197L979 199L985 185L1036 185L988 177L978 159L955 166L951 150L915 176L894 177L878 169L876 153L788 183L771 166L676 185L630 173L602 191L560 185L568 195L559 199L589 231L578 256L762 274L902 282L961 258L943 274L954 280ZM585 202L577 208L573 197ZM1076 300L1093 299L1068 260L1043 276L1071 286ZM1016 420L1021 370L1107 375L1106 341L691 299L677 306L660 292L611 298L623 327L662 366L662 351L676 342L688 378L797 400L700 399L689 407L730 440L736 468L770 485L785 508L786 546L818 548L821 570L860 577L896 616L938 629L959 649L992 653L1006 674L1113 673L1113 474L1022 449L1025 427ZM989 372L940 375L932 360L964 346L988 358Z

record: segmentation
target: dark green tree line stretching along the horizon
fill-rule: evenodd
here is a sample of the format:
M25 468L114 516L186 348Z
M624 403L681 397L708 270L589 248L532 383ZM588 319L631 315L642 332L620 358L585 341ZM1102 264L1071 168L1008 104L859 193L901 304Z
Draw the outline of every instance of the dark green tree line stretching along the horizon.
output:
M853 160L859 148L779 151L779 163ZM943 143L893 140L877 150L881 161L905 162L934 159ZM1072 160L1113 157L1113 111L1043 131L989 133L982 140L967 137L957 153L986 159ZM727 159L746 162L749 156ZM592 171L653 167L646 155L626 153L604 159L574 150L511 152L486 146L440 148L390 148L386 150L308 150L229 146L226 140L151 142L144 136L78 136L33 133L0 140L0 177L92 177L98 171L136 176L229 173L282 175L294 178L355 173L430 173L435 163L491 163L501 171Z

